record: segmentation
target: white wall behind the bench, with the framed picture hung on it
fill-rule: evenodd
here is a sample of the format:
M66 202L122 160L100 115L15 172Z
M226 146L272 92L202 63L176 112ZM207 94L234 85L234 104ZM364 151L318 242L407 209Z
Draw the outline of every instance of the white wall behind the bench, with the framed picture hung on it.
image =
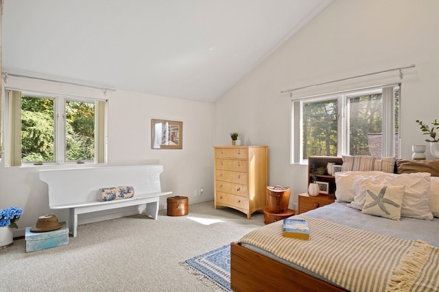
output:
M100 90L18 77L8 79L7 84L3 83L3 88L103 97ZM119 90L108 92L106 97L109 165L163 164L162 190L173 191L172 196L189 197L189 204L213 200L213 103ZM152 118L183 122L182 150L151 149ZM34 226L38 217L47 213L56 214L59 221L68 219L68 211L49 209L47 185L38 178L38 170L41 168L65 166L32 165L10 168L5 167L4 162L2 159L0 163L0 208L16 206L23 209L23 217L17 222L20 229L14 231L14 236L24 235L25 227ZM204 187L203 196L193 196L194 190L200 187ZM161 198L161 209L166 209L166 204L166 198ZM120 211L124 213L119 213ZM136 208L127 208L102 212L99 215L108 218L135 212ZM84 219L80 219L80 224L99 219L90 219L87 215L82 217Z

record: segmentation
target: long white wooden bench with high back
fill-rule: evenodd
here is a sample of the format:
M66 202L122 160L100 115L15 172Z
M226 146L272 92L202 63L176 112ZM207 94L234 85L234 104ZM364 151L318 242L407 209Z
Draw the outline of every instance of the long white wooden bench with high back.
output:
M145 214L158 216L160 196L172 194L161 191L160 174L163 165L100 166L60 170L40 170L40 180L49 186L49 207L69 209L69 228L77 235L78 215L121 207L146 204ZM101 202L100 188L134 187L132 198ZM100 193L99 193L100 194Z

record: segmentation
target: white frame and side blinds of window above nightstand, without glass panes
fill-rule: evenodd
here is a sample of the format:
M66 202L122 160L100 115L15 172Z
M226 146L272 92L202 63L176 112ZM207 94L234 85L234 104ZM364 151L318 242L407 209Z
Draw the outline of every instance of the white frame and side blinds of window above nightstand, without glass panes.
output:
M315 103L337 99L337 157L349 154L349 98L367 94L382 93L382 135L383 152L382 157L395 156L395 108L394 93L399 90L399 103L401 103L401 83L388 85L377 85L368 88L344 90L329 94L319 94L316 96L305 96L292 99L292 141L291 141L291 161L290 163L307 164L307 159L303 159L303 104ZM401 112L399 112L401 120ZM391 147L391 148L390 148ZM400 151L398 151L400 152ZM398 157L397 157L398 158Z

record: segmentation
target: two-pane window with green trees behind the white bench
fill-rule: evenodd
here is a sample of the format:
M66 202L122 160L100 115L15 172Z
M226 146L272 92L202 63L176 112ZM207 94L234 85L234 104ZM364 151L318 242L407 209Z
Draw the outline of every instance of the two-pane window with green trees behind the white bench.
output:
M10 166L105 163L106 101L8 90Z

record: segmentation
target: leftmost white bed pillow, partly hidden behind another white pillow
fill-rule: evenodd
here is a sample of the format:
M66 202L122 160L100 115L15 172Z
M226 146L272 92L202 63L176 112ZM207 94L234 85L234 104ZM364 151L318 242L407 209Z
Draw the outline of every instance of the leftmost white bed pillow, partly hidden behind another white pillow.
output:
M368 174L382 174L383 172L335 172L335 198L337 202L352 202L355 191L353 188L354 179L357 176Z

